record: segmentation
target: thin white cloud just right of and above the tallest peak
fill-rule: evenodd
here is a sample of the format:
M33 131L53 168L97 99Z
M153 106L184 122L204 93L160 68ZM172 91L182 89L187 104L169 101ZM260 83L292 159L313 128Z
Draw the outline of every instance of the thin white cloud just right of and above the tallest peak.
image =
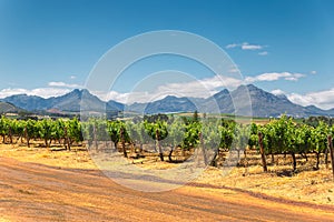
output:
M259 82L259 81L276 81L284 79L287 81L297 81L301 78L305 77L302 73L291 73L291 72L266 72L256 77L246 77L246 83Z

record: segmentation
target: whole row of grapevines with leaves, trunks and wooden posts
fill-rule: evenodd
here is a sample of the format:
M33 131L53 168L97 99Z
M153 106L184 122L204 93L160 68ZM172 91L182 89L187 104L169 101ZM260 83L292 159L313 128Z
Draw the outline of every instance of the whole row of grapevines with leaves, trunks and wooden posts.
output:
M247 167L252 153L261 154L263 170L291 162L292 171L301 164L318 170L321 163L333 169L334 127L318 121L296 123L283 115L266 124L242 124L233 120L193 117L150 115L131 120L43 119L16 120L1 117L2 143L61 147L72 145L101 152L117 150L125 158L156 157L159 161L179 163L200 149L206 165L220 167L227 153L235 153L238 165ZM31 143L33 141L35 143ZM212 153L212 154L209 154ZM298 161L303 159L304 161ZM312 161L311 161L312 160ZM286 162L285 161L285 162Z

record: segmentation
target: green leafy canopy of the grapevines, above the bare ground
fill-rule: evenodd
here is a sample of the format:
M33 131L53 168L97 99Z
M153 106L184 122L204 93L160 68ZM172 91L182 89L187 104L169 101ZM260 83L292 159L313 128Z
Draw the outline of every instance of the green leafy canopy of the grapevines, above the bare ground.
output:
M196 120L196 121L195 121ZM310 122L316 122L311 124ZM239 124L230 120L204 118L199 121L198 113L193 118L167 117L164 114L147 115L132 121L106 121L89 119L80 122L73 119L14 120L0 118L0 135L2 142L14 143L18 138L42 139L46 147L52 141L82 142L112 141L128 143L149 143L185 150L198 144L212 150L218 148L226 151L245 149L247 145L258 148L258 133L263 134L263 145L266 154L316 153L317 159L327 149L327 135L334 138L334 125L330 119L310 119L310 122L296 124L292 118L283 115L267 124ZM171 149L171 151L173 151ZM160 152L159 151L159 152ZM161 152L160 152L161 153ZM317 163L320 161L317 160Z

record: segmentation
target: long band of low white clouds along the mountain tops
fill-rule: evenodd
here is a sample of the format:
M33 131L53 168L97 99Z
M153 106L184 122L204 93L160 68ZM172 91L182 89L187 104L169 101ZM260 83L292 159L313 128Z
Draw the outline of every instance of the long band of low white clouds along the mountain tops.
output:
M215 75L213 78L206 78L189 82L179 83L168 83L157 87L151 92L126 92L120 93L116 91L110 91L108 93L102 92L91 92L92 94L99 97L104 101L115 100L122 103L131 104L134 102L148 102L163 99L166 95L176 97L194 97L194 98L207 98L217 93L223 88L233 89L242 83L250 83L256 81L275 81L279 79L285 79L287 81L296 81L299 78L305 77L302 73L291 73L291 72L271 72L263 73L256 77L247 77L245 81L230 77ZM21 89L21 88L7 88L0 90L0 98L6 98L13 94L28 94L28 95L39 95L42 98L59 97L70 92L71 88L77 88L76 84L67 84L63 82L50 82L47 88L37 89ZM294 103L301 105L314 104L322 109L334 108L334 88L330 90L323 90L317 92L308 93L285 93L281 89L275 89L272 91L273 94L286 94L286 97Z

